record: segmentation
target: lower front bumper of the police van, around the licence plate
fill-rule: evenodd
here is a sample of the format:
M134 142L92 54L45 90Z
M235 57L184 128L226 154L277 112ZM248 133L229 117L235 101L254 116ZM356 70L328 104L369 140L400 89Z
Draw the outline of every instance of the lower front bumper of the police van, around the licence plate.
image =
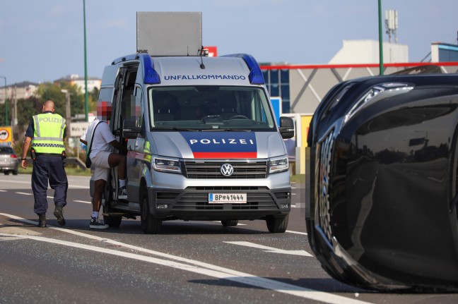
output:
M246 193L246 203L209 203L209 193ZM290 213L291 188L187 187L148 188L150 212L160 219L196 221L252 220Z

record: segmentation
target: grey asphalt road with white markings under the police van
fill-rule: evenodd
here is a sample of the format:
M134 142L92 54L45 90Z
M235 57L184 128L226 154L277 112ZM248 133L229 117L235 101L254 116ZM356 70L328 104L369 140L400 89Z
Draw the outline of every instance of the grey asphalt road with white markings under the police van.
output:
M0 303L457 303L453 293L377 293L331 279L311 255L303 195L293 191L288 231L264 221L139 219L90 230L88 178L69 176L66 226L37 228L30 175L0 176ZM301 198L302 197L302 198Z

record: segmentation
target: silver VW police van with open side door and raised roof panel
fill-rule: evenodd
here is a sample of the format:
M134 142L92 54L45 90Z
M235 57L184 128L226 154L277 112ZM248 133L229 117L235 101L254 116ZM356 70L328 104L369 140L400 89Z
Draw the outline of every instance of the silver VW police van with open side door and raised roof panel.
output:
M137 13L137 27L166 30L170 20L194 25L199 17ZM206 56L201 40L188 34L165 49L157 37L146 39L153 46L137 41L135 54L105 67L99 101L112 102L110 128L128 150L128 199L117 199L113 169L102 202L105 223L140 216L145 233L158 233L173 219L223 226L262 219L270 232L283 233L291 202L283 138L293 137L293 120L280 117L278 125L252 56Z

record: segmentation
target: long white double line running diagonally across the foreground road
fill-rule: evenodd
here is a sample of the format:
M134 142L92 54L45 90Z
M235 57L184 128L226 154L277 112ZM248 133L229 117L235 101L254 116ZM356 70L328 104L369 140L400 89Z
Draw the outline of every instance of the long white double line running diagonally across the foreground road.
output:
M12 215L12 214L0 213L0 215L4 215L5 217L10 217L12 219L17 219L17 220L23 221L23 222L28 223L28 224L37 224L36 221L30 221L28 219L23 219L21 217L16 217L15 215ZM149 253L151 255L158 255L160 257L165 257L165 258L168 258L170 260L177 260L177 261L180 261L180 262L185 262L185 263L188 263L188 264L191 264L191 265L186 265L186 264L182 264L182 263L179 263L179 262L172 262L172 261L168 261L168 260L160 260L160 259L155 258L155 257L145 257L143 255L136 255L136 254L133 254L133 253L124 253L124 252L117 251L117 250L112 250L112 249L98 248L98 247L95 247L95 246L84 245L84 244L81 244L81 243L65 242L65 243L69 243L72 247L76 247L76 248L85 248L85 249L88 249L88 250L94 250L94 251L98 251L98 252L101 252L101 253L109 253L109 254L112 254L112 255L119 255L119 256L123 256L123 257L135 258L137 260L144 260L146 262L152 262L152 263L155 263L155 264L158 264L158 265L163 265L163 266L173 267L173 268L177 268L177 269L187 270L189 272L196 272L196 273L204 274L204 275L207 275L207 276L213 276L213 277L216 277L218 279L226 279L228 281L235 281L237 283L243 283L243 284L247 284L247 285L251 285L251 286L270 289L272 291L278 291L280 293L287 293L287 294L290 294L292 296L298 296L300 298L318 300L318 301L321 301L323 303L333 303L333 304L334 303L336 303L336 304L340 304L340 303L342 303L342 304L367 304L368 303L368 302L364 302L364 301L361 301L361 300L356 300L356 299L352 299L352 298L346 298L344 296L337 296L337 295L334 295L332 293L326 293L324 291L315 291L314 289L310 289L310 288L304 288L304 287L295 286L295 285L292 285L292 284L286 284L286 283L283 283L281 281L274 281L274 280L271 280L271 279L264 279L262 277L254 276L252 274L247 274L247 273L244 273L244 272L237 272L236 270L233 270L233 269L228 269L228 268L225 268L225 267L219 267L219 266L216 266L216 265L211 265L211 264L206 263L206 262L199 262L199 261L196 261L196 260L190 260L190 259L187 259L185 257L177 257L175 255L169 255L167 253L160 253L158 251L149 250L149 249L146 249L146 248L141 248L141 247L137 247L137 246L134 246L134 245L129 245L129 244L126 244L126 243L121 243L121 242L118 242L118 241L113 241L113 240L110 240L110 239L107 239L107 238L100 238L98 236L93 236L93 235L90 235L90 234L87 234L87 233L82 233L82 232L79 232L79 231L73 231L73 230L59 228L59 227L55 227L55 226L51 226L51 225L48 225L48 227L49 227L49 229L55 229L55 230L59 230L59 231L62 231L62 232L71 233L71 234L74 234L76 236L82 236L82 237L85 237L85 238L91 238L93 240L104 241L104 242L110 243L112 245L122 246L124 248L137 250L137 251L140 251L140 252L143 252L143 253ZM18 236L18 235L10 235L10 234L6 235L6 233L0 233L0 235L13 236L13 237L22 237L22 238L33 238L33 239L36 239L37 241L47 241L47 240L49 240L49 243L58 243L58 244L64 245L64 243L62 243L64 241L52 240L52 239L49 239L49 238L42 238L42 237L35 237L35 236ZM192 265L194 265L194 266L192 266ZM199 268L199 267L201 267L201 268Z

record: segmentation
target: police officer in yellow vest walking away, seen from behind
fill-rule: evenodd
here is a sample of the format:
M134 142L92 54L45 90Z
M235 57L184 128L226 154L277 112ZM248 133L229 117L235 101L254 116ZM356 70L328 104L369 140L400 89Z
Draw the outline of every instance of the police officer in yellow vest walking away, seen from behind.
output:
M69 188L64 169L64 138L66 137L65 119L54 114L54 102L43 104L42 114L33 116L25 131L21 165L27 168L27 151L32 143L32 190L35 203L33 211L38 215L38 226L46 227L47 188L54 190L54 216L57 223L65 225L62 208L66 205L66 192ZM35 150L35 153L34 153Z

